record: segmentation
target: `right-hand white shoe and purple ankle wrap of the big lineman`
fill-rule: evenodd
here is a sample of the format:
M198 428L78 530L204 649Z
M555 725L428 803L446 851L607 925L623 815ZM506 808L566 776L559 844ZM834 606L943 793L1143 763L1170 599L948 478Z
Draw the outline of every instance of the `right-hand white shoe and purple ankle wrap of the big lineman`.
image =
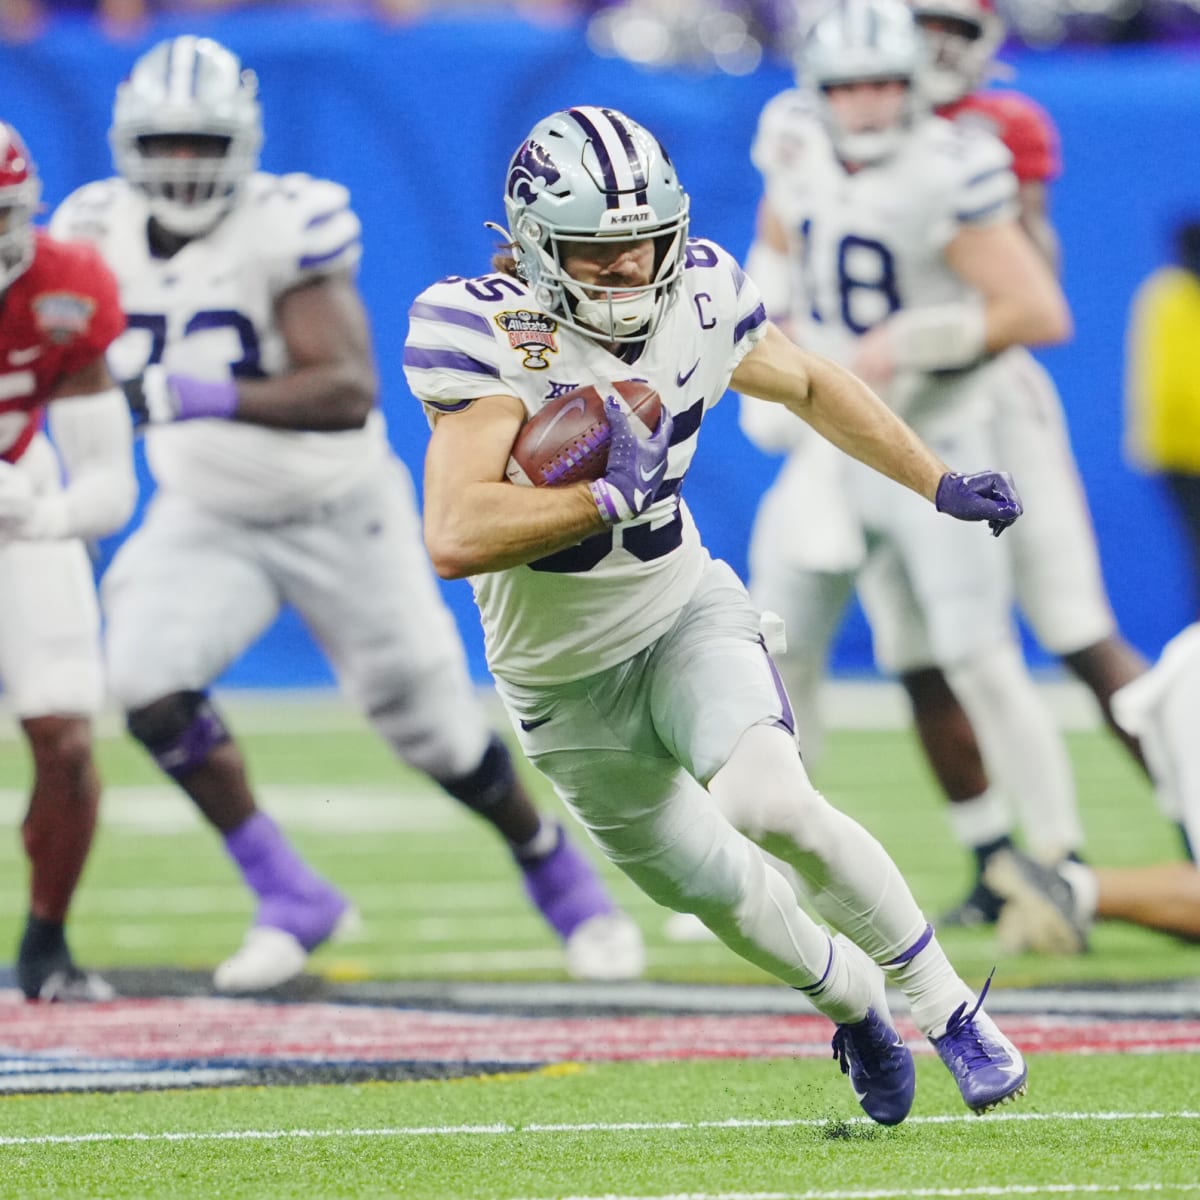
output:
M562 827L548 854L520 866L529 899L563 940L568 974L575 979L641 976L646 966L641 932Z

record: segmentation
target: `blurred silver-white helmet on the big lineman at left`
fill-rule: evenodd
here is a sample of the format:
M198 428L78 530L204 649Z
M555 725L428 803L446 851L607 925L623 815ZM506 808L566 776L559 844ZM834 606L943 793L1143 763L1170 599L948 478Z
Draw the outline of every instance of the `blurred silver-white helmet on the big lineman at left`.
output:
M148 152L145 139L172 136L209 139L214 152ZM160 42L116 89L108 140L116 169L145 193L155 220L182 236L206 233L258 167L258 80L211 38Z

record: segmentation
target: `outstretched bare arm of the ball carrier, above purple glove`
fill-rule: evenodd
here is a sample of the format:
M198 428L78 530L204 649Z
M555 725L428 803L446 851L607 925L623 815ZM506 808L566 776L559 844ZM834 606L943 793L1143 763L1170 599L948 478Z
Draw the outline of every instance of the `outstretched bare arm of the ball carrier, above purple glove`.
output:
M929 500L949 469L862 379L774 326L742 360L732 386L785 404L839 450Z

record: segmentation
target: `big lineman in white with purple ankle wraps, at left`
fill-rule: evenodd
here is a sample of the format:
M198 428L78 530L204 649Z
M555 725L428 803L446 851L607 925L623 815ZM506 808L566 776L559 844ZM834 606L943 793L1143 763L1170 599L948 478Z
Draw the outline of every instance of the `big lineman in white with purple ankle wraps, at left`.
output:
M505 839L568 970L640 973L636 926L533 808L474 695L376 404L346 188L256 169L256 79L206 38L137 61L110 140L120 178L54 217L120 282L131 332L118 350L158 485L104 580L108 666L130 732L258 898L216 986L283 983L350 914L257 806L209 695L284 605L397 756Z

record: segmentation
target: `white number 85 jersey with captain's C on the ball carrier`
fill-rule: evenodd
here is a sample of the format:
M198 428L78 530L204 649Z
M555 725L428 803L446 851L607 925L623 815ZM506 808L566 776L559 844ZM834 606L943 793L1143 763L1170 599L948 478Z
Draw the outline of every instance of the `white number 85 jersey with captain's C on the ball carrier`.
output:
M418 296L404 372L430 413L520 397L532 416L589 383L644 379L674 419L666 484L637 520L472 584L492 671L517 684L602 671L664 634L708 562L679 492L704 414L766 331L758 290L733 258L691 239L679 293L632 361L564 329L509 275L452 277Z

